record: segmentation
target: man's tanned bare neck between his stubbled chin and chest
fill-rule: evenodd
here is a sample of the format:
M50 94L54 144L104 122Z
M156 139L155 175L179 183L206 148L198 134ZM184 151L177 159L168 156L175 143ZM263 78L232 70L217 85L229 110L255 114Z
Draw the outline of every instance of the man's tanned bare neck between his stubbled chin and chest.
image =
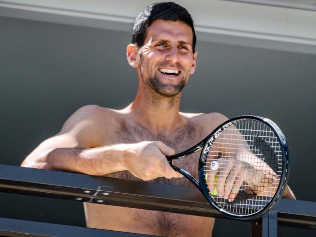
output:
M183 126L179 114L181 94L165 97L158 93L139 93L126 109L131 119L154 133L167 134Z

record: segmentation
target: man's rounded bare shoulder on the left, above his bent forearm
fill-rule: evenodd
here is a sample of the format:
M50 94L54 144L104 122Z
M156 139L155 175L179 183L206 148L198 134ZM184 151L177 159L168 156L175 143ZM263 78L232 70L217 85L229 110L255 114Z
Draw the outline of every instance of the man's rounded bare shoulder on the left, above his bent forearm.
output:
M118 117L119 114L112 109L83 106L67 119L58 134L71 133L82 142L90 141L89 146L102 146L104 139L116 128Z

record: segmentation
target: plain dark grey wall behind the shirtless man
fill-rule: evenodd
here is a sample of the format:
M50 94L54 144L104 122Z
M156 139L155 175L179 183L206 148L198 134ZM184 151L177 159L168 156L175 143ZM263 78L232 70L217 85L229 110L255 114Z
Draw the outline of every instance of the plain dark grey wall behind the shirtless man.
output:
M137 88L128 43L124 32L0 18L0 164L19 165L83 105L127 106ZM316 55L209 42L197 50L182 110L271 118L289 142L297 199L316 201ZM84 225L81 203L13 194L0 193L0 216ZM214 236L249 231L248 223L218 220ZM297 234L316 233L279 228L279 236Z

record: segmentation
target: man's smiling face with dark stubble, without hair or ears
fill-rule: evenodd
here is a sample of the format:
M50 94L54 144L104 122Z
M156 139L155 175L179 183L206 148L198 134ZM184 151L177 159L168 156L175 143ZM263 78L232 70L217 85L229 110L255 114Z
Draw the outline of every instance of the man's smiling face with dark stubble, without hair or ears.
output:
M192 51L193 33L181 21L155 20L148 28L140 49L140 73L143 82L161 95L179 94L195 71Z

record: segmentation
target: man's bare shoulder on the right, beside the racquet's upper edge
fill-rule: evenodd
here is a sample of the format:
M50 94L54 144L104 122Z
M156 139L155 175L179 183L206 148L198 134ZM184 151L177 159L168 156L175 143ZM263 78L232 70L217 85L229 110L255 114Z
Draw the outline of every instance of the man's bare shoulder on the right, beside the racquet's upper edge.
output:
M181 113L193 123L199 124L203 129L211 131L225 122L228 118L221 113Z

